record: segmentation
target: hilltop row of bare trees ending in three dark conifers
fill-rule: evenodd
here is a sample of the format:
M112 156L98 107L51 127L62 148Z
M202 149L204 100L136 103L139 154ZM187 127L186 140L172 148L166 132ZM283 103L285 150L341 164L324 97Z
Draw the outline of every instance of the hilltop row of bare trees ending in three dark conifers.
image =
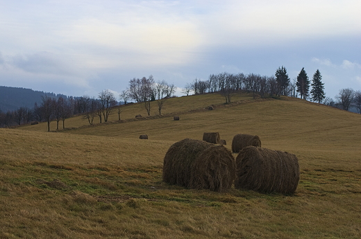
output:
M208 80L195 79L192 83L187 83L183 88L183 93L187 96L190 92L194 94L204 94L219 92L224 96L226 103L230 103L232 96L240 90L248 91L253 97L259 95L265 96L298 96L311 99L319 103L325 98L324 83L321 81L322 76L319 70L314 73L312 78L312 90L310 91L310 80L305 69L301 69L299 76L290 82L287 69L279 67L275 76L260 76L258 74L244 73L219 73L211 74Z

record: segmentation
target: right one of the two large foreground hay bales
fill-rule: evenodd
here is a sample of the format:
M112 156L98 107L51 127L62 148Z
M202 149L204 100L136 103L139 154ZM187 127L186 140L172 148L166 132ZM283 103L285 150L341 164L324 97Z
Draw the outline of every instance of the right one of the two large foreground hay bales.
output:
M238 189L292 194L299 184L299 160L294 154L249 146L238 154L236 164Z

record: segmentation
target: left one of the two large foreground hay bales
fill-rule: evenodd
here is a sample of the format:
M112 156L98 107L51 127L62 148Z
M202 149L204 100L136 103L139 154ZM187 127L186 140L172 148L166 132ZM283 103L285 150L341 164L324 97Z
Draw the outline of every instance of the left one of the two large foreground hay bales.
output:
M226 191L235 179L235 159L224 146L183 139L165 154L162 177L167 184Z

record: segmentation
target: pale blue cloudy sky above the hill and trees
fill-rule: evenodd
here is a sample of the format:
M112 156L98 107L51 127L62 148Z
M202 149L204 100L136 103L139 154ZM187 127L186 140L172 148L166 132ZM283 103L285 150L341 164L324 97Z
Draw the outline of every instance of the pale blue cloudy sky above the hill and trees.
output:
M153 75L184 87L212 73L296 78L326 96L361 90L360 0L0 0L0 85L119 94Z

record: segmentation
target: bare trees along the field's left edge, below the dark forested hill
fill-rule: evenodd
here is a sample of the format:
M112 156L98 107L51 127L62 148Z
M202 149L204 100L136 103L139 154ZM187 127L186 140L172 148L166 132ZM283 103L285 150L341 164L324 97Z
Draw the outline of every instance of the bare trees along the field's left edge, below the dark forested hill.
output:
M149 78L133 78L129 81L128 89L120 94L124 104L128 99L137 103L144 103L146 112L151 114L151 101L156 101L158 113L162 114L165 100L171 97L176 91L174 85L169 85L165 80L155 82L153 76ZM121 120L121 105L115 95L108 89L99 93L98 98L81 96L78 98L59 98L44 96L40 105L35 103L33 109L20 107L14 112L0 112L0 127L22 125L32 121L47 122L47 130L50 131L51 121L56 121L56 130L59 129L59 122L62 121L62 128L65 128L65 119L75 114L83 114L84 118L92 125L94 118L99 118L99 123L107 122L111 109L117 106L119 121Z

